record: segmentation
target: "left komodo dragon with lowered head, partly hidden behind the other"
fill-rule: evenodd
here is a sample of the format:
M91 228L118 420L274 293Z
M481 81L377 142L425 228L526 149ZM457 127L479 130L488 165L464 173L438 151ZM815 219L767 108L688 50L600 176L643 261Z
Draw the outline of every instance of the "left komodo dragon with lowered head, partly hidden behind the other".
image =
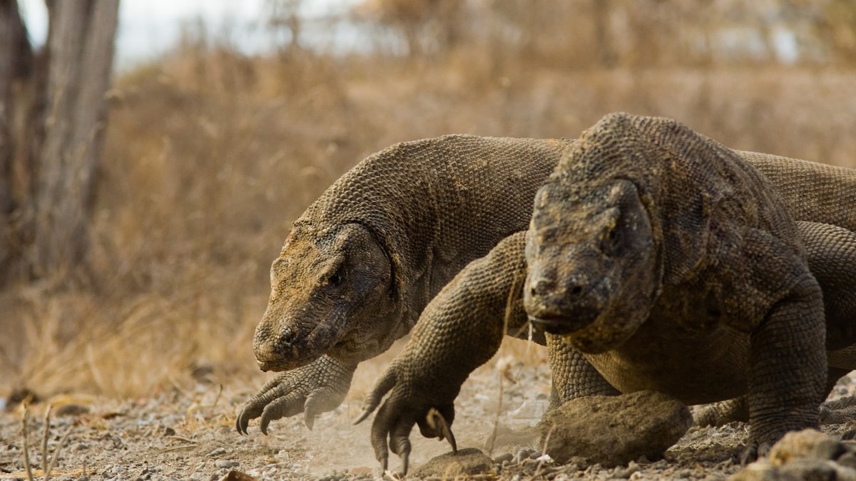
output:
M356 366L404 336L455 274L526 229L565 140L448 135L393 145L348 171L294 222L270 268L253 349L287 371L235 425L338 406ZM543 336L542 336L543 338Z

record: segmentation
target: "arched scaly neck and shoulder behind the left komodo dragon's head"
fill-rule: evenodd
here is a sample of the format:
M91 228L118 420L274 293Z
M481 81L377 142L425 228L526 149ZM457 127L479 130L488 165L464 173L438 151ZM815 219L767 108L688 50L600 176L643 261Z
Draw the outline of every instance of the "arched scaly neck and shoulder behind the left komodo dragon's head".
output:
M466 264L528 227L535 192L567 145L472 135L393 145L342 176L305 217L360 223L377 237L409 330Z

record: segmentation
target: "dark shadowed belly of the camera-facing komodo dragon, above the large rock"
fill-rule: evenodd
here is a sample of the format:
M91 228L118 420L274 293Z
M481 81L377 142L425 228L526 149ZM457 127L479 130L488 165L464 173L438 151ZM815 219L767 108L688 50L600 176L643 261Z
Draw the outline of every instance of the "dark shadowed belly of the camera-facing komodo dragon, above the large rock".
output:
M748 353L749 336L722 324L702 332L649 320L620 347L586 359L622 393L651 389L703 404L746 394Z

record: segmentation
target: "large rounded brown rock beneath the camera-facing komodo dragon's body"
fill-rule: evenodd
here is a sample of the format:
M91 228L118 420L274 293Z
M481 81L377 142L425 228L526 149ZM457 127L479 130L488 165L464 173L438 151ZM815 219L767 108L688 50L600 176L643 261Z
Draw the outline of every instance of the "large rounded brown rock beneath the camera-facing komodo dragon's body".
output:
M580 456L617 466L639 456L661 457L692 424L693 416L681 402L639 391L568 401L546 413L538 427L541 445L547 441L547 454L558 463Z

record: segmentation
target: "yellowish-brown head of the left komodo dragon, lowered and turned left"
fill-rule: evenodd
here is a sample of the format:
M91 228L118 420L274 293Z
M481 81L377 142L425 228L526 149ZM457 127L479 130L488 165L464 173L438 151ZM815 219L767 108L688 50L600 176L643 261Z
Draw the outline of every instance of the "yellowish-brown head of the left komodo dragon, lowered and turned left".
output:
M286 371L322 354L354 356L392 330L392 265L358 223L295 227L270 266L270 300L253 339L263 371Z

